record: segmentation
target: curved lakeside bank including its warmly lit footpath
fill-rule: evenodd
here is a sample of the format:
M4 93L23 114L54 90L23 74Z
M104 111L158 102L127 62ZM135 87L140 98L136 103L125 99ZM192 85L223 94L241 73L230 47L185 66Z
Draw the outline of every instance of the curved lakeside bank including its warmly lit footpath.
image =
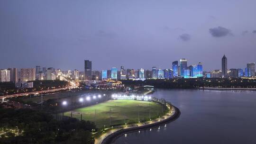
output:
M131 133L138 130L148 129L155 126L161 126L168 122L174 121L180 116L180 110L170 104L166 104L167 108L169 108L169 112L166 113L165 116L157 118L155 121L150 121L144 124L132 125L127 127L121 127L114 130L110 130L108 133L105 133L95 139L95 144L110 144L120 135Z

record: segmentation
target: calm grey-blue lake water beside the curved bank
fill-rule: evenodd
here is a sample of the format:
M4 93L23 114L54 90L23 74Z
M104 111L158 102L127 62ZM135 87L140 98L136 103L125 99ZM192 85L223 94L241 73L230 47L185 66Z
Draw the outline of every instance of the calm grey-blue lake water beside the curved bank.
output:
M156 90L153 96L171 102L181 116L114 144L256 144L256 92Z

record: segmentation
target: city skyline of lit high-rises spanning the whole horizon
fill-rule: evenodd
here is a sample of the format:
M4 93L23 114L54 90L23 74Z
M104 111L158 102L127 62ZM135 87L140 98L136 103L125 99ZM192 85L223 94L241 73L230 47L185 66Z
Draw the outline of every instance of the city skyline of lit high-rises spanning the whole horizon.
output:
M161 69L155 66L151 70L145 69L120 69L113 67L110 70L92 71L92 63L84 60L84 71L55 69L52 67L36 68L9 68L0 70L0 82L26 82L35 80L146 80L146 79L172 79L172 78L228 78L228 77L255 77L255 63L247 63L243 69L228 69L228 58L224 55L221 59L221 70L204 72L202 63L188 66L186 59L174 61L172 68Z

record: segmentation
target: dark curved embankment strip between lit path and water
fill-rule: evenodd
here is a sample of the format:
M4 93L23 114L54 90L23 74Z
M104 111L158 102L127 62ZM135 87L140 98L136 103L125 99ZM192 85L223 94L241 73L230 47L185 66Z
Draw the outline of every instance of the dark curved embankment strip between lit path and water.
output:
M170 105L170 104L169 104ZM168 117L164 120L152 123L152 124L148 124L148 125L144 125L144 126L137 126L137 127L130 127L130 128L125 128L125 129L119 129L115 132L113 132L112 134L106 136L101 143L99 144L111 144L113 141L115 141L119 136L123 135L123 134L127 134L127 133L132 133L138 130L146 130L152 127L156 127L156 126L162 126L165 125L166 123L172 122L174 120L176 120L181 112L179 110L179 108L172 106L172 108L174 108L175 112L171 117Z

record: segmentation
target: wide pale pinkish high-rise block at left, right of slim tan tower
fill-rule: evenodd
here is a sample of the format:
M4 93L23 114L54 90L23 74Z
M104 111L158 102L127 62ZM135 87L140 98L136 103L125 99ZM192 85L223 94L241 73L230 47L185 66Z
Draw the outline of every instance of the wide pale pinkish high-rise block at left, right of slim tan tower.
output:
M36 80L36 69L20 69L20 81L35 81Z

